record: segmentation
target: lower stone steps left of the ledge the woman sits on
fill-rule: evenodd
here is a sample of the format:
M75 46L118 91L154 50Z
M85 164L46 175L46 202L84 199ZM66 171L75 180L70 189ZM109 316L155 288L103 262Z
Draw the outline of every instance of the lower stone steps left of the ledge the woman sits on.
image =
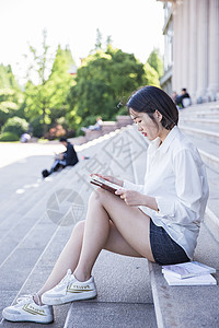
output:
M90 173L102 172L135 181L131 160L143 160L142 150L147 147L141 140L131 153L137 140L130 128L123 128L85 143L78 153L88 161L51 175L38 188L13 196L2 207L1 309L19 295L37 291L47 279L73 225L85 218L89 196L95 189L89 183ZM103 251L93 271L99 297L73 306L56 306L50 327L140 327L142 321L157 327L146 259ZM1 320L0 326L39 325Z

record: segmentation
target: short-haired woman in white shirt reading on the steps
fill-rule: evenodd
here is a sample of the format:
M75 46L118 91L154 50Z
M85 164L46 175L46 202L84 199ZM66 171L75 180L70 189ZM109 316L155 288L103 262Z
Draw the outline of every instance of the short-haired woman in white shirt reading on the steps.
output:
M100 175L118 186L116 195L92 192L85 221L76 224L47 281L5 307L3 318L46 324L54 319L53 305L95 297L92 268L102 249L161 266L193 259L208 199L205 165L178 129L178 110L164 91L145 86L127 107L151 141L142 185Z

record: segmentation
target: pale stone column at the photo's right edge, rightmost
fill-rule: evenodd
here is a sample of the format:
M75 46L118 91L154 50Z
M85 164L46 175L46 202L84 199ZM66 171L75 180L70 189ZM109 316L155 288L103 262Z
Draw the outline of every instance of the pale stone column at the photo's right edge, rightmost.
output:
M217 93L219 93L219 0L209 1L208 37L209 37L208 98L210 101L216 101Z

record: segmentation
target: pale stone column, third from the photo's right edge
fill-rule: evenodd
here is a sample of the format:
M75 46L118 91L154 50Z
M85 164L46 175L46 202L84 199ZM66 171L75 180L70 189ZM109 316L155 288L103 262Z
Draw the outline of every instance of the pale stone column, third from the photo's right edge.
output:
M196 103L197 89L197 0L189 1L188 93Z

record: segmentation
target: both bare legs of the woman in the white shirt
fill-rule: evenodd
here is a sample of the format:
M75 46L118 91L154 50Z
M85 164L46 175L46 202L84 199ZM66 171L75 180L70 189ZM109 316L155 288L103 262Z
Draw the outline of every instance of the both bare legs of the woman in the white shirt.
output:
M79 280L88 280L103 248L153 261L149 243L150 218L107 191L100 189L97 195L91 196L85 224L80 222L74 227L49 278L38 291L39 297L60 282L67 269L74 271Z

